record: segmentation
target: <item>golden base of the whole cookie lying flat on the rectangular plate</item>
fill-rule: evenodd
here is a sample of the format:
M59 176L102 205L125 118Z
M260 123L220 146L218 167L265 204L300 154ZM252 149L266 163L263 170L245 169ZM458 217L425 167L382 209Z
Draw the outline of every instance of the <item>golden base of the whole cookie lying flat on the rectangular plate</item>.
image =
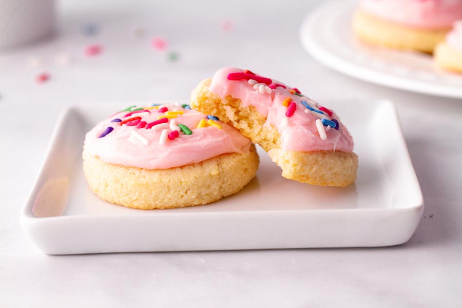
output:
M98 197L138 209L177 208L220 200L250 182L259 164L253 144L247 153L226 153L169 169L109 164L85 150L83 159L88 186Z

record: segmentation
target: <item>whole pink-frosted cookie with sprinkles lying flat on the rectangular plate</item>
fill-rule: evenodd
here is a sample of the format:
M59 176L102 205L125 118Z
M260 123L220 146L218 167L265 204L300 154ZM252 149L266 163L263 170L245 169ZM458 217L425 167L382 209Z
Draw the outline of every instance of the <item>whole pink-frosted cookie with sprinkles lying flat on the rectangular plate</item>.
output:
M201 205L254 178L252 142L188 105L131 106L85 137L83 168L101 199L139 209Z

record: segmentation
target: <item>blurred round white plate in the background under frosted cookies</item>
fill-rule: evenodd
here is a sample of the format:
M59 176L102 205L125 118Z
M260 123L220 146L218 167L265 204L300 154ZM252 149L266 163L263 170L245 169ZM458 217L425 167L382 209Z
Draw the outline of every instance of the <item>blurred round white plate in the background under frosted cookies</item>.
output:
M301 41L326 66L364 81L420 93L462 98L462 75L437 69L432 56L361 44L351 28L356 1L333 1L307 16Z

